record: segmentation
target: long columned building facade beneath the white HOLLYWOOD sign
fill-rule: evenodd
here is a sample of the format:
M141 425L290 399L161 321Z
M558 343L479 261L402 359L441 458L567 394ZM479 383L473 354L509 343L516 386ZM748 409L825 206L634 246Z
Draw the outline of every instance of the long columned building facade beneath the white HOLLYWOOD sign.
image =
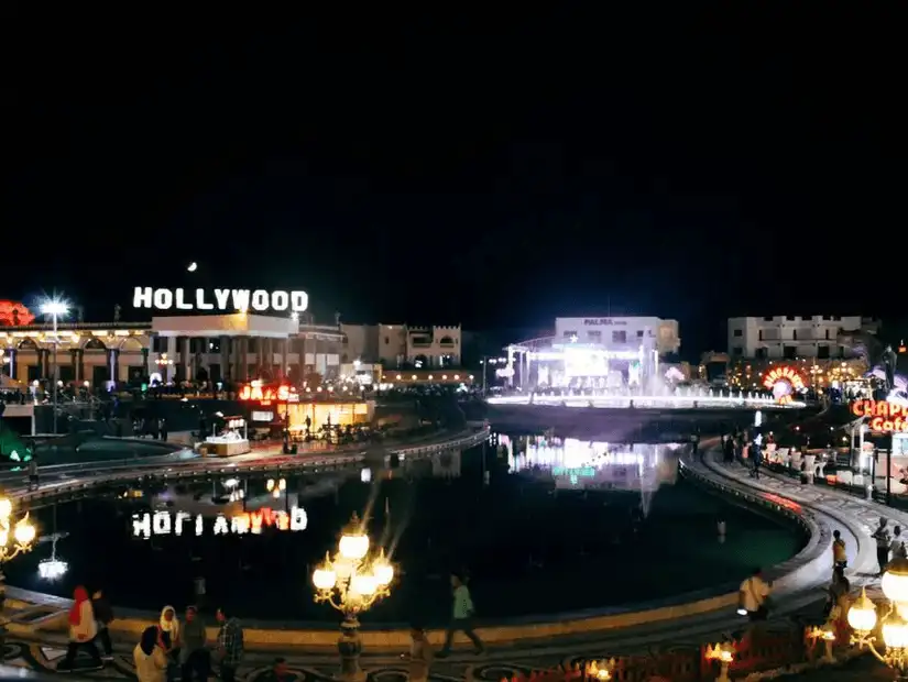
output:
M340 373L337 326L238 312L155 317L151 322L61 322L0 328L0 371L31 384L161 383L252 378L305 381ZM56 359L56 361L54 360Z

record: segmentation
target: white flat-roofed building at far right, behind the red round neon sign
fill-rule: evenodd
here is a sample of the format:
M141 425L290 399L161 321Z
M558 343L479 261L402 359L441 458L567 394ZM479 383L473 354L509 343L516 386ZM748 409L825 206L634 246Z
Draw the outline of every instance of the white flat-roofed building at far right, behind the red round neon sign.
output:
M860 315L767 316L729 318L729 355L754 359L852 358L860 333L878 324Z

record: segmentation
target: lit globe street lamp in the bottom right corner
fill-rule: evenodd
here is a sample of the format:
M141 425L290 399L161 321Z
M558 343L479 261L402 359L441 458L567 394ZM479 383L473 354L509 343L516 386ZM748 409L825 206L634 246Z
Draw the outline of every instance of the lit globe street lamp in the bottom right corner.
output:
M908 560L893 560L883 574L883 594L889 601L879 629L885 650L876 648L877 606L862 588L861 598L849 609L849 625L854 629L851 642L868 649L879 661L895 669L899 675L908 675Z

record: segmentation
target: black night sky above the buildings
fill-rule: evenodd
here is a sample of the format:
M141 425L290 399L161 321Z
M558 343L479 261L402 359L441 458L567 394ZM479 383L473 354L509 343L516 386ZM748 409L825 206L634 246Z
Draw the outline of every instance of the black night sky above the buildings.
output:
M730 315L904 309L904 42L868 6L11 4L0 298L100 320L136 315L134 285L304 288L326 320L488 330L611 310L679 319L685 354Z

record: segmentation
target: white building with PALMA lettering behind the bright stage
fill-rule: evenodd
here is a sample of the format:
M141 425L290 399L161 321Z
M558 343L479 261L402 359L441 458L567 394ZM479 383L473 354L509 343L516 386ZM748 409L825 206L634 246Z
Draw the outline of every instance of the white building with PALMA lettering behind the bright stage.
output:
M678 321L657 317L559 317L555 320L555 339L615 351L636 351L644 345L659 355L677 353L681 348Z

